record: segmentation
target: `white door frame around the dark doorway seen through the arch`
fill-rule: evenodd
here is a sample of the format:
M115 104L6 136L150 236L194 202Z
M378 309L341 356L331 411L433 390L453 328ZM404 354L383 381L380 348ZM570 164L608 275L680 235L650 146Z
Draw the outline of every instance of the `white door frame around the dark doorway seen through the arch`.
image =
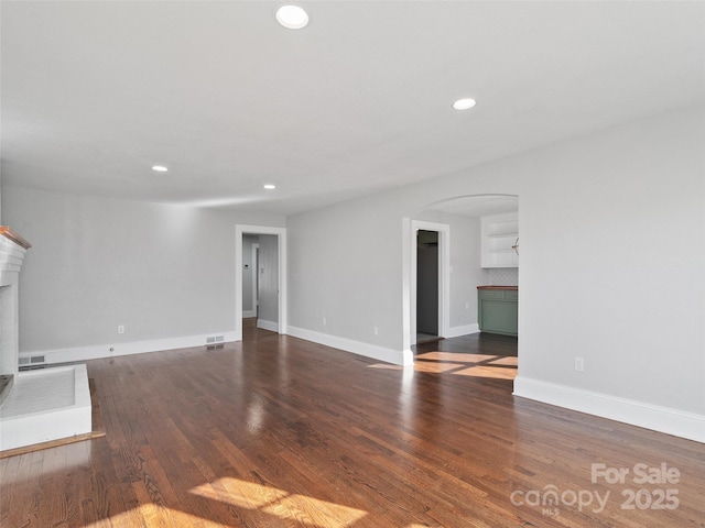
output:
M451 226L447 223L425 222L422 220L404 219L406 223L408 243L406 256L404 257L405 271L403 279L406 283L404 293L408 293L408 300L404 299L404 339L403 349L408 350L416 344L416 232L425 231L438 232L438 337L445 338L449 333L451 314ZM405 296L406 297L406 296Z

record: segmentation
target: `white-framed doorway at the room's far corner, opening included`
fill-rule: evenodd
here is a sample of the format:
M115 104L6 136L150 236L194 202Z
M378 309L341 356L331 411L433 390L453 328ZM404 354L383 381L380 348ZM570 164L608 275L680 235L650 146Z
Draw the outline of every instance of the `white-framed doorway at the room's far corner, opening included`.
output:
M243 318L257 328L286 333L286 229L236 226L236 340Z

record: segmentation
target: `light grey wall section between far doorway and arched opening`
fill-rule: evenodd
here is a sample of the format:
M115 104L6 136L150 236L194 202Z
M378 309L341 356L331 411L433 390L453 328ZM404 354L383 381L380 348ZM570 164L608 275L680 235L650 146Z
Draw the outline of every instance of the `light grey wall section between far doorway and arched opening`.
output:
M380 194L288 218L291 333L399 362L401 217Z

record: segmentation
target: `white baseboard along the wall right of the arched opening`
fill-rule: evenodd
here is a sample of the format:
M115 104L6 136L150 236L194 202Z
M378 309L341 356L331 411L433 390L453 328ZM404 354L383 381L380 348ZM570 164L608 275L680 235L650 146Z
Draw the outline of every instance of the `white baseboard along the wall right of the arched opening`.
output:
M705 416L517 376L514 396L705 443Z

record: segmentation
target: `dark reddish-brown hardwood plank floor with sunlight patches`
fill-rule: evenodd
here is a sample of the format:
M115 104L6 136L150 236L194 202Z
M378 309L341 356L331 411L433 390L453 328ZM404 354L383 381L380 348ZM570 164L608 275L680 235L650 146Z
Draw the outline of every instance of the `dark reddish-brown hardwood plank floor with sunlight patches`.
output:
M513 338L402 370L248 332L88 362L106 436L0 460L0 525L705 526L704 444L512 397Z

